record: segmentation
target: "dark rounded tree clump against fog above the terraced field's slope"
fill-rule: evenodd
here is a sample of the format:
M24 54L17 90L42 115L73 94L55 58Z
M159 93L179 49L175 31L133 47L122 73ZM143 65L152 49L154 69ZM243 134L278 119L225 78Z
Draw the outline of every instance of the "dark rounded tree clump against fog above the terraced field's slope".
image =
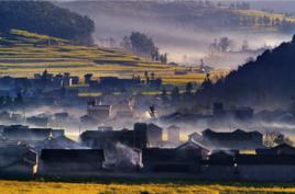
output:
M143 33L132 32L130 36L124 36L121 47L135 55L167 64L167 54L160 54L160 49L155 46L153 39Z

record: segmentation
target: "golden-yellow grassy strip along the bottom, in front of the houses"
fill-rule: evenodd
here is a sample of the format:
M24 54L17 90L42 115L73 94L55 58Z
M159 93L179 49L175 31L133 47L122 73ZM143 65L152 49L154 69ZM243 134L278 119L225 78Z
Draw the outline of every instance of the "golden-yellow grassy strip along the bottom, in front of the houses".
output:
M0 181L1 194L283 194L295 193L291 184L140 182L62 183Z

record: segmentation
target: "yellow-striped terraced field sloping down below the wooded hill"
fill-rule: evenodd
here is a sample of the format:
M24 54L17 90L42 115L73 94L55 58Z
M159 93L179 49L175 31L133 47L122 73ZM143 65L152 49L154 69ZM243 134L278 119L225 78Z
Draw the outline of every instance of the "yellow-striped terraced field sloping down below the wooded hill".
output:
M53 73L70 72L79 77L91 72L95 77L130 78L143 77L144 71L149 71L174 84L201 82L206 76L197 69L153 62L120 49L70 45L64 39L17 30L7 36L1 38L0 34L0 41L8 44L0 46L0 76L33 77L45 68ZM177 70L187 70L187 73L175 75ZM214 72L219 73L225 72Z

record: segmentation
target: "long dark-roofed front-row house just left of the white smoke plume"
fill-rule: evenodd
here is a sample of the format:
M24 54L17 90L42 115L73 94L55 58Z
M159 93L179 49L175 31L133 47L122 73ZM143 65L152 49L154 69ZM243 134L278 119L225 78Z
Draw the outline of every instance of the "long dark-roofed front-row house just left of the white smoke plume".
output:
M89 175L102 170L101 149L43 149L39 162L39 175Z

